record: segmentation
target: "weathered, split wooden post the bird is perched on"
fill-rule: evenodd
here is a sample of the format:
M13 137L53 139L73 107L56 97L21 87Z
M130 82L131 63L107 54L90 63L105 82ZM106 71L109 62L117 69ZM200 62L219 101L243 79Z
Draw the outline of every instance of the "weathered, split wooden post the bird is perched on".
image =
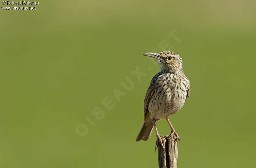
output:
M175 143L175 135L162 140L165 150L160 143L157 143L159 168L177 168L178 145Z

